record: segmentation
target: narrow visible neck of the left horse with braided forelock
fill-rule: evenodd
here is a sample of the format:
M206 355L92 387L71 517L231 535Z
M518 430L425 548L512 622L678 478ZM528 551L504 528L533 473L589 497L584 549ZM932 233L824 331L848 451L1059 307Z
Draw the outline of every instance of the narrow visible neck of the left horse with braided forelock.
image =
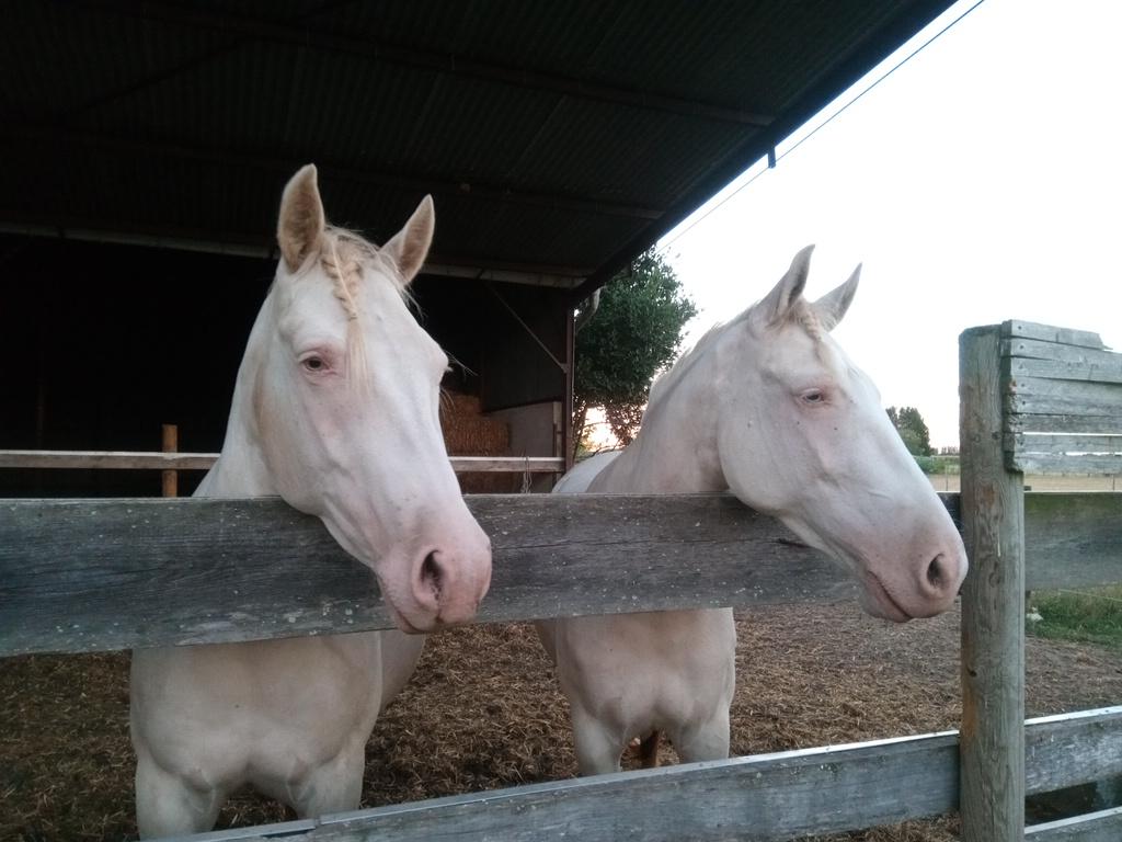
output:
M266 341L276 330L273 296L274 292L270 291L249 332L249 341L246 342L246 353L233 386L233 401L230 404L222 451L200 483L195 496L267 497L277 494L261 452L257 413L254 411L255 385L266 356Z

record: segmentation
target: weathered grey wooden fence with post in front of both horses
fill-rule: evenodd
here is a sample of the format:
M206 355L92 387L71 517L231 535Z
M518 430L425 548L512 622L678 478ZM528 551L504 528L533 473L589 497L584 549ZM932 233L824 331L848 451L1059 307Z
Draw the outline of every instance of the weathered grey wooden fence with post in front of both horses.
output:
M1021 719L1023 592L1122 579L1122 496L1024 495L1018 467L1024 463L1017 460L1036 457L1017 449L1018 434L1037 432L1042 421L1022 429L1011 419L1055 415L1067 432L1078 413L1070 399L1050 392L1072 376L1078 400L1094 403L1093 432L1122 429L1122 355L1101 344L1075 346L1075 333L1057 331L1046 342L1055 347L1032 353L1059 361L1072 347L1095 350L1088 375L1098 378L1095 387L1074 361L1051 374L1013 375L1020 364L1012 360L1022 357L1010 349L1023 329L1006 323L963 338L962 516L958 496L944 496L965 527L974 566L964 593L969 680L960 738L948 732L622 772L197 839L787 840L949 813L959 802L967 840L1119 839L1122 809L1023 830L1026 793L1122 771L1122 707ZM1021 388L1028 381L1019 378L1038 376L1049 383ZM1047 400L1029 396L1042 392ZM1048 447L1105 455L1114 445ZM1112 458L1122 458L1119 450ZM468 503L495 549L478 622L854 596L822 556L727 495L472 496ZM0 655L389 626L367 569L319 521L278 501L0 502Z

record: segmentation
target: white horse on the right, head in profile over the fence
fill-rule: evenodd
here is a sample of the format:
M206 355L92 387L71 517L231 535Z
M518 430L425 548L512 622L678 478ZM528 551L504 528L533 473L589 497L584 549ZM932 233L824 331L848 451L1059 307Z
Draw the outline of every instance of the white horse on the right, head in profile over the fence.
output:
M966 575L958 531L904 449L872 381L828 331L857 287L802 298L811 248L774 290L711 330L651 392L635 441L570 472L558 492L732 492L843 562L874 616L947 610ZM749 562L749 559L745 559ZM644 762L666 732L684 761L728 757L730 608L537 623L572 708L583 775Z

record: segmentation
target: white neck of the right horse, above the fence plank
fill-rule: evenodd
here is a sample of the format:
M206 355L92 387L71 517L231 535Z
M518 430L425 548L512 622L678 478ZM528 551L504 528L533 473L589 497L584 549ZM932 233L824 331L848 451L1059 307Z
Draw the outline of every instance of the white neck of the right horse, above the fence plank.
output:
M728 489L717 451L717 354L708 347L683 358L643 415L638 436L589 487L645 494Z

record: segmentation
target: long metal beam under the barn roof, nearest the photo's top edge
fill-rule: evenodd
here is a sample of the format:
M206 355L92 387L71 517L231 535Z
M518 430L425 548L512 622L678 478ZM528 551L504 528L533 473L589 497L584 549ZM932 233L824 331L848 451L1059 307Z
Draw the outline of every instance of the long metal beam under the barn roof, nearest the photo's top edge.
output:
M237 34L255 40L269 40L300 47L312 47L329 53L346 53L361 56L369 61L403 64L438 73L469 76L539 91L550 91L578 99L599 100L614 104L629 106L646 111L700 117L718 122L730 122L743 126L770 126L774 120L774 117L771 115L761 115L720 103L619 88L557 73L508 67L491 62L481 62L479 60L416 49L414 47L399 47L353 36L316 31L306 26L296 27L291 24L239 18L227 13L215 16L195 10L192 7L168 6L155 2L136 3L132 0L91 0L86 4L98 9L112 10L121 15L159 20L165 24L214 29Z

